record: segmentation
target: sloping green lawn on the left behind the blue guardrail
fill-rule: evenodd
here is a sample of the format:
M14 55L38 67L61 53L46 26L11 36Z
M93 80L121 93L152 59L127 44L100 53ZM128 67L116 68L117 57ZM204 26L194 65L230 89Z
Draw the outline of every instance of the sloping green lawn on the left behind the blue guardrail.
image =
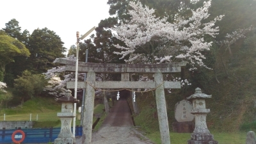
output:
M94 108L94 113L103 113L104 104L98 104ZM57 113L61 112L61 104L56 103L54 99L45 99L42 97L37 97L32 100L28 100L23 106L17 106L17 108L12 109L1 109L0 111L0 121L29 121L31 114L31 121L35 121L33 125L34 128L38 127L61 127L60 118L58 118ZM77 111L77 115L80 115ZM38 116L38 120L36 120ZM103 113L102 118L100 118L99 124L102 123L106 114ZM93 118L95 122L97 118ZM73 123L72 123L73 125ZM81 125L81 120L76 120L76 125ZM100 125L97 125L95 129L99 129Z

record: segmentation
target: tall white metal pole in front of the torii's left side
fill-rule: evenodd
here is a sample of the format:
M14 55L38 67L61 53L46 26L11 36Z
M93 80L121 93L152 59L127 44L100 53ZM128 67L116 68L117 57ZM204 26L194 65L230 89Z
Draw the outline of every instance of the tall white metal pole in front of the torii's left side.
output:
M79 52L79 31L76 32L77 47L76 47L76 77L75 77L75 99L77 98L77 75L78 75L78 52ZM74 103L74 114L76 115L76 103ZM73 118L73 137L76 134L76 116Z

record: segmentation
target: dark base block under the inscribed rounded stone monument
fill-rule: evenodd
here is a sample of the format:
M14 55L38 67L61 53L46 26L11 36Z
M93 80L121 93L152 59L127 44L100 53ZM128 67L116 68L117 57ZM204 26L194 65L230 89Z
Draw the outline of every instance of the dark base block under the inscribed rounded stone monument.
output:
M191 133L195 129L195 124L193 122L173 122L172 129L174 132Z

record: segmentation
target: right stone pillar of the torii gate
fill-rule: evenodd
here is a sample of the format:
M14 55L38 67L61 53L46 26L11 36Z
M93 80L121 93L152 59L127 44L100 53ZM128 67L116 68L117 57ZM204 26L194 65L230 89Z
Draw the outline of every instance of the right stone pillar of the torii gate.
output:
M159 129L161 134L161 143L170 144L170 133L169 133L169 125L168 125L168 116L166 111L166 100L164 96L164 86L163 84L163 74L157 72L154 74L154 79L156 81L156 85L159 85L156 88L156 105L157 105L157 114L159 121ZM160 85L161 84L161 85Z

